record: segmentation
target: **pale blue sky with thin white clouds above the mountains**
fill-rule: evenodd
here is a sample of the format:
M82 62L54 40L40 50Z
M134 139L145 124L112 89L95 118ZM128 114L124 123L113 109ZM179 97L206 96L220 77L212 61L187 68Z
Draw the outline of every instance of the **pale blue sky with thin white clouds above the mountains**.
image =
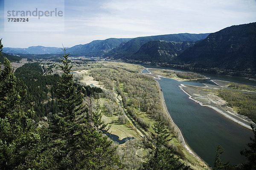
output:
M43 12L56 8L63 14L29 16L23 23L7 21L8 10L36 8ZM256 0L0 0L4 47L72 47L107 38L212 33L253 22Z

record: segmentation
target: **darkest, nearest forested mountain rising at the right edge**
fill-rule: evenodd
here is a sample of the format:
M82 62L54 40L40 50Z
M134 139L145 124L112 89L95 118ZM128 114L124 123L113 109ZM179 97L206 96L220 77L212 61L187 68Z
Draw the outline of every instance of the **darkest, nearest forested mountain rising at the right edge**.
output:
M178 56L195 68L256 71L256 23L230 26L209 34Z

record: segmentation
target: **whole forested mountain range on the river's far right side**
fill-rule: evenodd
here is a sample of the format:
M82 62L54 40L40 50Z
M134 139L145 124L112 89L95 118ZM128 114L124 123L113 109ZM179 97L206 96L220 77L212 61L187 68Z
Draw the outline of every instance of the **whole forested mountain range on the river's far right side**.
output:
M213 74L255 75L256 23L230 26L212 34L138 37L105 57Z

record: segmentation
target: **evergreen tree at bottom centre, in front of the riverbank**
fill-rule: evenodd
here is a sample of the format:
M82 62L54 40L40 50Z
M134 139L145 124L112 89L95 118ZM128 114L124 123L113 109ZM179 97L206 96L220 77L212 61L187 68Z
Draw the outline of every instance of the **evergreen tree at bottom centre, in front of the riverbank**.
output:
M151 152L152 158L143 164L142 170L188 170L189 167L179 162L174 150L166 147L170 133L165 129L163 122L154 125L152 134L154 150Z

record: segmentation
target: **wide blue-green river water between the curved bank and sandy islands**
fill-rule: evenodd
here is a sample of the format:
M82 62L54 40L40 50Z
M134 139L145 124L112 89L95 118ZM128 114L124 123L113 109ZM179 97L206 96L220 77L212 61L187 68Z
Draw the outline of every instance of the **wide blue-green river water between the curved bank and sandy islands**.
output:
M209 74L206 76L210 77ZM236 77L212 75L210 78L252 85L254 83L241 77L236 79ZM212 84L209 80L178 82L174 79L161 78L157 81L163 91L166 107L173 121L180 128L186 143L198 156L208 164L213 164L215 150L220 144L225 151L221 156L222 161L241 164L246 161L246 158L240 155L240 150L243 150L250 142L253 132L224 118L213 109L199 105L189 99L189 96L179 88L181 83L196 86L204 86L202 83Z

